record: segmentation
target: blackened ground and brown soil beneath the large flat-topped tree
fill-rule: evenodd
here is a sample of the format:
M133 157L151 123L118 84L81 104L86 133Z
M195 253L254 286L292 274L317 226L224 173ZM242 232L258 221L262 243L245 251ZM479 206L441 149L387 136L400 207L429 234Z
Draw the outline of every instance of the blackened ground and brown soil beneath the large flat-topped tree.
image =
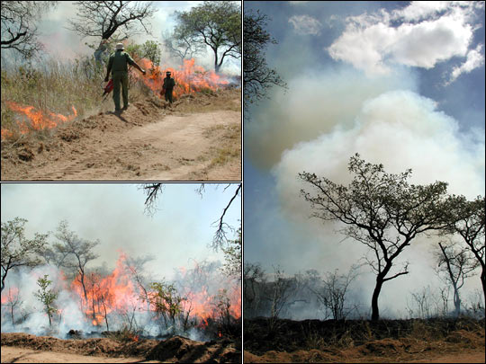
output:
M246 362L484 362L484 319L245 320Z

